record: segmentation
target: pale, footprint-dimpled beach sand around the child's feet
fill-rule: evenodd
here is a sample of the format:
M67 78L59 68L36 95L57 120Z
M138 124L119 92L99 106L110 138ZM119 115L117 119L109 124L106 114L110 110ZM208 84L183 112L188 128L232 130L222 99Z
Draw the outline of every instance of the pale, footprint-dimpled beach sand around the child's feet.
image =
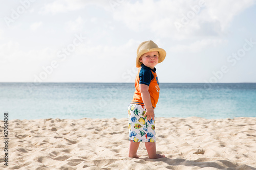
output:
M8 167L0 122L0 169L256 169L256 117L156 118L158 154L128 158L127 118L9 120Z

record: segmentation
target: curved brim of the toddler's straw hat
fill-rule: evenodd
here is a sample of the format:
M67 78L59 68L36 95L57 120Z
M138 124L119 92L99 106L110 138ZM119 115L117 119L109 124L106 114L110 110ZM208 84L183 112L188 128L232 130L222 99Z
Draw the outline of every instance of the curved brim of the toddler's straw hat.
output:
M140 67L141 66L141 62L140 62L140 57L148 52L159 52L159 57L158 57L158 63L161 63L166 56L166 52L165 50L163 50L163 48L151 48L150 50L147 49L142 49L139 51L137 58L136 58L136 67Z

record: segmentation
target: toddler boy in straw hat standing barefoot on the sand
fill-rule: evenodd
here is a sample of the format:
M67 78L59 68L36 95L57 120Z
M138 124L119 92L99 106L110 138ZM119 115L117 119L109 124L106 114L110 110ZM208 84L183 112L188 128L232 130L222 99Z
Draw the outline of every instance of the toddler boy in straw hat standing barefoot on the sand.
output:
M140 142L150 159L165 157L156 154L155 113L159 98L159 84L155 66L162 62L166 52L153 41L142 42L137 49L136 67L139 67L135 80L133 100L128 107L129 114L129 157L138 158Z

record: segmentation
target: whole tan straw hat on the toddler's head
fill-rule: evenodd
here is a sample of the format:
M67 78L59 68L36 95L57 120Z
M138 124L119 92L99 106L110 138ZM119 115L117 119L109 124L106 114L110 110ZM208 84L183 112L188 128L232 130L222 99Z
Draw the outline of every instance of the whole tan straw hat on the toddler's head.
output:
M147 53L147 52L159 52L159 58L158 58L158 63L161 63L165 56L166 52L157 46L157 44L153 41L144 41L141 44L139 44L138 49L137 49L137 58L136 58L136 67L140 67L142 64L140 62L140 57Z

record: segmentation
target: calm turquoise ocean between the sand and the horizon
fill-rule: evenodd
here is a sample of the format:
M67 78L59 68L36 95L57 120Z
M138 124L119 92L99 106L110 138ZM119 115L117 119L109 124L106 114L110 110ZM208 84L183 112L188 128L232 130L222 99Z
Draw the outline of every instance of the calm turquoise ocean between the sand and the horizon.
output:
M256 116L256 83L159 86L156 117ZM0 83L0 111L9 119L123 118L134 91L134 83Z

